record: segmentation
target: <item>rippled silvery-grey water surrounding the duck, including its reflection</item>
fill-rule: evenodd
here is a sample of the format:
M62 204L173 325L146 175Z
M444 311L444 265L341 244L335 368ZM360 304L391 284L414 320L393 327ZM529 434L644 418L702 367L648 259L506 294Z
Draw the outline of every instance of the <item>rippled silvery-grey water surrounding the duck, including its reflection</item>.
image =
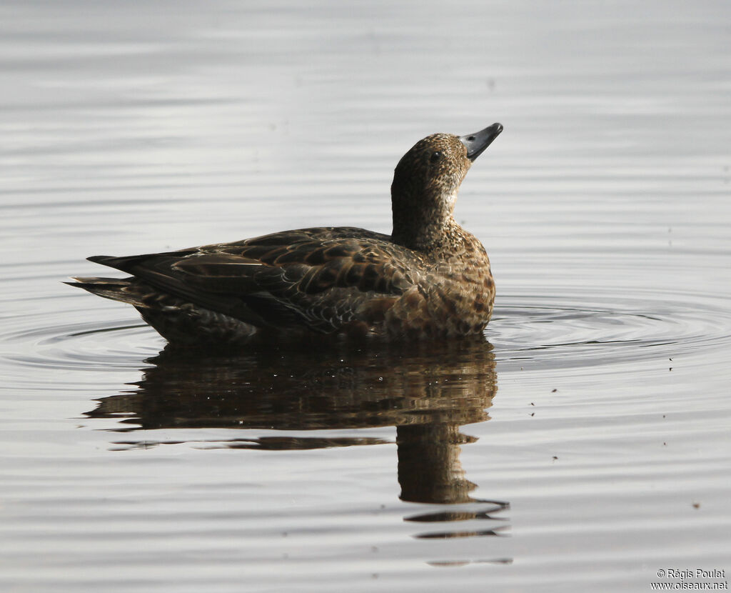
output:
M731 570L731 4L0 2L0 589L648 591ZM85 257L455 215L485 339L165 347Z

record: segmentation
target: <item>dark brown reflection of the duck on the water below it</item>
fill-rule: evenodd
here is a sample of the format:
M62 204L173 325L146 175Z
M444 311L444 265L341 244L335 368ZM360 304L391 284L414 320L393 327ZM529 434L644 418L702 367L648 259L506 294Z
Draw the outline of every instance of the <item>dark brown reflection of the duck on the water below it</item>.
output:
M476 500L459 456L467 423L489 420L495 361L484 339L428 347L262 350L202 354L167 347L147 361L134 390L107 397L88 416L141 428L260 428L281 431L395 426L401 499L478 503L477 510L427 513L410 521L493 518L506 503ZM386 442L368 437L260 437L205 446L270 450ZM126 440L127 447L150 442ZM485 507L488 505L488 507ZM475 505L468 505L475 506ZM459 537L458 532L421 537ZM463 535L496 535L494 530Z

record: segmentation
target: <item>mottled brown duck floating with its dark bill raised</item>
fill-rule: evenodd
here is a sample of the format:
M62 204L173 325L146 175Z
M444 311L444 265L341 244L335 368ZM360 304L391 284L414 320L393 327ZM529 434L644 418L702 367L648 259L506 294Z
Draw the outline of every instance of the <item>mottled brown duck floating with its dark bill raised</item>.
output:
M428 341L482 334L495 282L482 243L453 213L467 171L502 132L419 140L395 167L390 235L286 230L232 243L91 262L126 278L67 284L134 306L170 344Z

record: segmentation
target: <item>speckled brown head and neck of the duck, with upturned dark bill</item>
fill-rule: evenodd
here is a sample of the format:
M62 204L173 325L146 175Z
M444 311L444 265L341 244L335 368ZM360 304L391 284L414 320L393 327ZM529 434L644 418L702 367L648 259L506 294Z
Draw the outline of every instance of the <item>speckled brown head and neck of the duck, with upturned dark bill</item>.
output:
M493 124L465 136L433 134L401 157L391 184L394 241L425 249L439 239L469 167L502 129Z

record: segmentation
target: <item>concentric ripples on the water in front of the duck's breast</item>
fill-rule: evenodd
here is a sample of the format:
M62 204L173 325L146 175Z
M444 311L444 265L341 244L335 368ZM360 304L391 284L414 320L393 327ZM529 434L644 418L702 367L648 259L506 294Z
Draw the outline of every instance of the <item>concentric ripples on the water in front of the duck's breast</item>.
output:
M723 299L657 296L503 296L488 326L490 341L499 361L554 369L672 358L731 343Z

